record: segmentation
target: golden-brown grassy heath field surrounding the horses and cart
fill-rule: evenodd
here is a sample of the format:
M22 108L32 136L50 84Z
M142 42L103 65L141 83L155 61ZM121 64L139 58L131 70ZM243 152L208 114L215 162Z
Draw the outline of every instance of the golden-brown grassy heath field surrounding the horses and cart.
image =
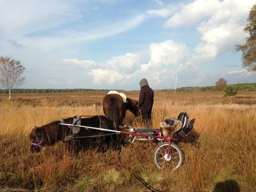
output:
M127 91L138 99L138 91ZM34 126L80 115L102 115L106 92L0 94L0 191L214 191L224 182L256 191L256 93L224 97L220 92L155 92L153 127L163 118L188 112L195 118L200 146L180 144L184 164L159 171L154 147L137 142L121 153L89 150L70 156L64 144L31 153ZM142 128L127 112L125 123ZM139 178L139 179L138 179ZM143 182L141 182L143 181ZM236 184L236 185L235 185ZM227 185L226 185L227 186ZM223 188L222 188L223 189Z

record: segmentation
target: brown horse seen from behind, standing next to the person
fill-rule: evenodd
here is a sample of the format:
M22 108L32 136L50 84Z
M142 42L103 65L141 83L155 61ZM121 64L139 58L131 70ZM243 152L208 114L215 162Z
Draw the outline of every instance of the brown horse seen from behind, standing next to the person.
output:
M121 123L123 123L127 110L132 112L136 117L140 115L137 101L127 97L127 102L124 103L123 99L118 94L106 95L102 100L102 104L104 114L118 126L121 126Z

